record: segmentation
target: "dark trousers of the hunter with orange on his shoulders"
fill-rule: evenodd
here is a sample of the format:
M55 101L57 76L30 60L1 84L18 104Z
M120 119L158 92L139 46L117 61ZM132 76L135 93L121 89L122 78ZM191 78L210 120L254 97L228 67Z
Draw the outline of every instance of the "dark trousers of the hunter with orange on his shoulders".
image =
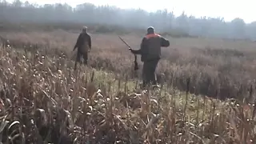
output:
M142 68L142 87L145 88L150 84L156 85L155 70L158 66L159 59L153 59L143 63Z

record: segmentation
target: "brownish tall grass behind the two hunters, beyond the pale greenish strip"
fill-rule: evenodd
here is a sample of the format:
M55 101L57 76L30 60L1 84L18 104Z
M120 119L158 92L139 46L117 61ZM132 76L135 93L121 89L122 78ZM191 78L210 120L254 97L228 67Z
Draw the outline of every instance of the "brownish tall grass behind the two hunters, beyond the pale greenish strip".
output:
M70 56L78 33L64 30L2 32L13 45L37 44L41 48L64 50ZM139 48L142 35L128 34L122 38ZM167 37L169 38L169 37ZM254 42L227 41L209 38L169 38L170 47L162 48L162 61L158 65L158 78L168 86L186 90L186 78L192 78L190 93L214 98L247 98L254 101L256 75ZM92 34L93 49L90 66L110 70L123 77L134 78L133 55L115 34ZM139 62L142 67L142 62ZM164 78L161 76L164 75ZM161 81L161 80L159 80Z

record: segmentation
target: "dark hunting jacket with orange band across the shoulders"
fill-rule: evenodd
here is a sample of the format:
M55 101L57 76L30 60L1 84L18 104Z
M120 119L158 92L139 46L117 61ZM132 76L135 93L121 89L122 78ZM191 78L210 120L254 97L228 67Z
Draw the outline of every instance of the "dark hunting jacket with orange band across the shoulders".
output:
M161 58L161 47L170 46L170 42L166 38L162 38L159 34L146 34L142 39L141 48L132 50L134 54L141 54L142 62Z

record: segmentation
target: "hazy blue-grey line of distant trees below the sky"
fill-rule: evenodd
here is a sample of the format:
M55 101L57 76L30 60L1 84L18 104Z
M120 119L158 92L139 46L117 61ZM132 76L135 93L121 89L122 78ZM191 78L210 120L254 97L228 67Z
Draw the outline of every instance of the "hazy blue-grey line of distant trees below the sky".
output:
M225 22L223 18L195 18L181 14L175 16L167 10L146 12L140 9L123 10L115 6L95 6L83 3L76 7L68 4L13 3L0 0L0 22L37 23L93 23L124 28L146 29L154 26L158 31L214 38L256 39L256 22L246 24L241 18Z

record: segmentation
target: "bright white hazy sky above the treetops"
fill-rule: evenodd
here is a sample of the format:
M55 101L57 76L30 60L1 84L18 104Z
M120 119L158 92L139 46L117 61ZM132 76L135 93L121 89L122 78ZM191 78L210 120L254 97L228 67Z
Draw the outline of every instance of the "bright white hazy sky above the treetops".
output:
M13 2L13 0L7 1ZM25 1L22 0L22 2ZM230 21L234 18L242 18L246 23L256 21L256 16L254 16L256 9L254 8L255 5L252 0L152 0L151 2L146 0L28 0L28 2L36 2L38 4L66 2L70 6L90 2L95 5L109 4L110 6L118 6L120 8L140 7L147 11L166 8L167 10L174 11L175 15L181 14L182 10L184 10L186 14L192 14L196 17L224 17L226 21Z

